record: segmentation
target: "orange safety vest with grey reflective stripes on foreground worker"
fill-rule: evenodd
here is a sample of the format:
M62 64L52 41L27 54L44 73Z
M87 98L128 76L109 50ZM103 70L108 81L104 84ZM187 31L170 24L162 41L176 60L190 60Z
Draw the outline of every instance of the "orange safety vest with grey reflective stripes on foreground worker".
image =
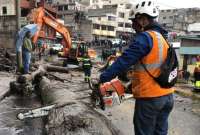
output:
M154 77L157 77L160 73L160 66L167 56L168 44L163 36L155 31L147 32L152 37L153 47L147 56L143 57L140 62L133 66L131 79L132 91L135 98L160 97L174 92L172 88L161 88L141 65L141 62L145 64L147 70Z

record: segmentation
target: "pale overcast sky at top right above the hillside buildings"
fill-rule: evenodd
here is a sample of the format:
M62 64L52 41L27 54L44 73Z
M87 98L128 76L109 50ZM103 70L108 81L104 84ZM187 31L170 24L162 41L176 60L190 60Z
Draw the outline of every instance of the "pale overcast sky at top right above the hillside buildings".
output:
M130 0L135 1L135 0ZM142 1L142 0L137 0ZM200 8L200 0L154 0L160 6L160 9L172 8ZM135 2L134 2L135 3Z

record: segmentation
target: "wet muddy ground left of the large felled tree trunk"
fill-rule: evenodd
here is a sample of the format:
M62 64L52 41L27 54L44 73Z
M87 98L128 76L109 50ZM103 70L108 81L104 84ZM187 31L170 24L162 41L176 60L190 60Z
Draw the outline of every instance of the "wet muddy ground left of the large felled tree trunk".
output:
M10 95L9 83L15 76L8 72L0 72L0 135L42 135L44 123L41 118L20 121L17 114L41 106L37 96L22 97Z

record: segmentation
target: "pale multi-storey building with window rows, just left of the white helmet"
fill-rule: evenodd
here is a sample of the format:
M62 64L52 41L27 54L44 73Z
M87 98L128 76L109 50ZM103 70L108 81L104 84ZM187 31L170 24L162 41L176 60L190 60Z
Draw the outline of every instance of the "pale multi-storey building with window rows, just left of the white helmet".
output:
M128 19L131 4L109 4L103 8L89 9L88 18L93 23L94 38L126 38L133 34Z

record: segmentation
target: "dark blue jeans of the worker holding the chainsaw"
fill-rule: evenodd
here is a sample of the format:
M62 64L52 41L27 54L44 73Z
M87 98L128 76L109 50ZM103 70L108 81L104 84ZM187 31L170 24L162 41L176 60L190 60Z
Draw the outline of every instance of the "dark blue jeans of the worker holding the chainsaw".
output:
M136 99L133 120L135 135L167 135L168 116L173 105L173 94L150 99Z

